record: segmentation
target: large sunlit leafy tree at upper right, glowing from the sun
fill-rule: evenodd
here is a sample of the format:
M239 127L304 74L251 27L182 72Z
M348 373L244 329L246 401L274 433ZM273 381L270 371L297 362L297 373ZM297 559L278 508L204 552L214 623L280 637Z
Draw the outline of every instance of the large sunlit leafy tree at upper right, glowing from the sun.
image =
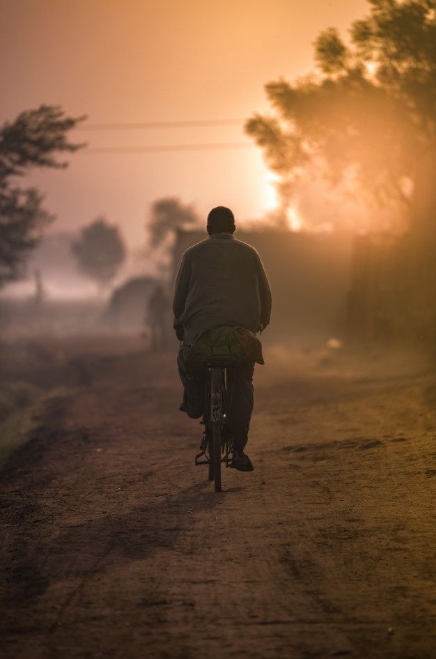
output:
M246 131L279 175L283 215L309 167L332 185L405 210L435 233L436 2L368 0L350 45L329 28L315 42L318 73L265 86L272 112Z

